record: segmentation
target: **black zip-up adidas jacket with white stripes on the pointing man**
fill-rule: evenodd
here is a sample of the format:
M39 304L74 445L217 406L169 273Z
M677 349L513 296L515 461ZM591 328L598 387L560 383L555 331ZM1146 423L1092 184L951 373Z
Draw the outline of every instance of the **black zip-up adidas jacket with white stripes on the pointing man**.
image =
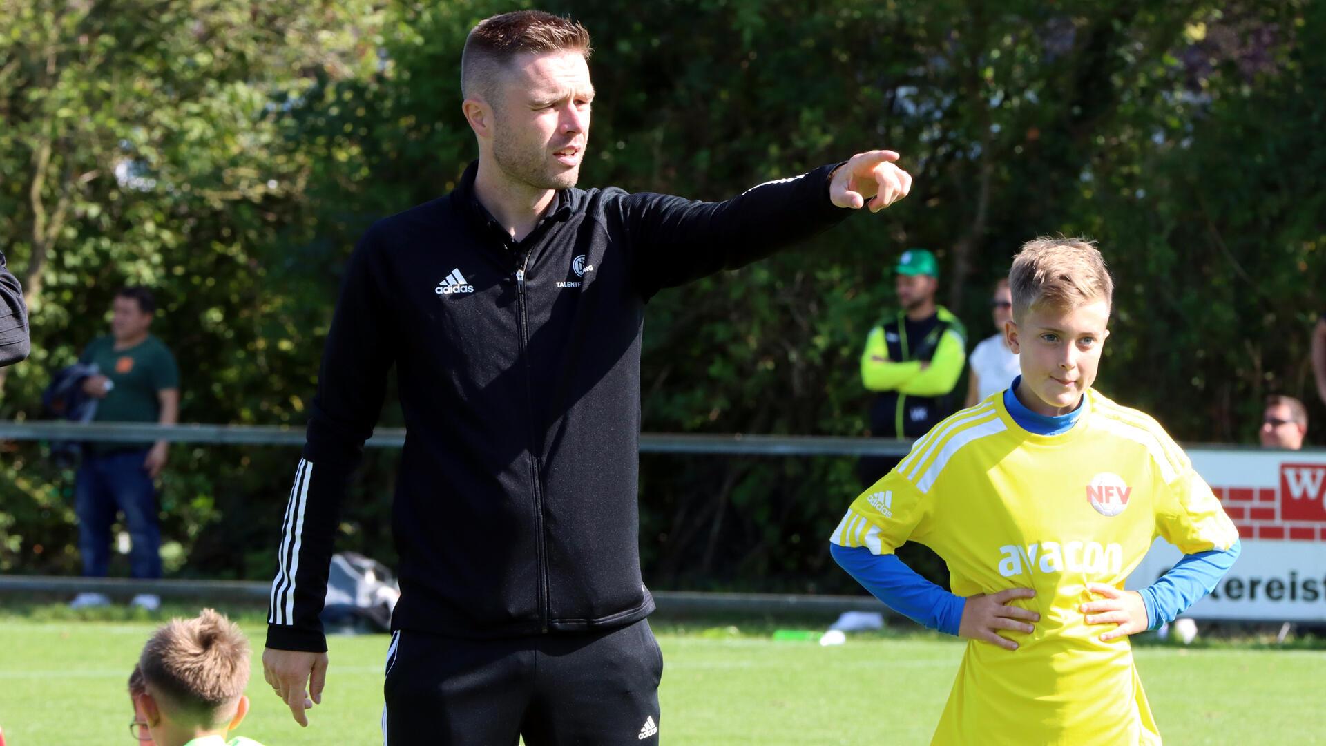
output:
M850 214L825 166L720 203L562 190L517 243L475 199L476 170L374 224L350 258L281 526L269 648L326 649L338 508L392 366L408 433L394 629L504 637L652 612L636 511L644 305Z

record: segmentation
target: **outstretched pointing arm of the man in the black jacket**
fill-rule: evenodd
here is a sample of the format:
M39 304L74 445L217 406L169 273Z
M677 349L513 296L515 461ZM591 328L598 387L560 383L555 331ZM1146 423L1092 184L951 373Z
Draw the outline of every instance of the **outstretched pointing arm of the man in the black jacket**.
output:
M646 296L736 269L825 231L869 207L878 212L911 190L898 154L871 150L808 174L752 187L725 202L662 194L626 196L625 220Z

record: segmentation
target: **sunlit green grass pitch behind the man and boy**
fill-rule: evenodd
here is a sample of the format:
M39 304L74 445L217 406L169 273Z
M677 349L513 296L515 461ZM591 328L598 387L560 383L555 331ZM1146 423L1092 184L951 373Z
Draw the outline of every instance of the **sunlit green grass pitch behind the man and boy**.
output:
M257 646L261 620L240 624ZM0 616L8 746L131 743L125 684L154 625ZM666 661L659 729L670 745L927 743L963 650L930 634L821 648L723 628L655 629ZM306 730L263 682L255 653L253 709L237 734L268 746L381 743L387 640L330 638L328 689ZM1326 743L1323 650L1142 645L1136 658L1166 743Z

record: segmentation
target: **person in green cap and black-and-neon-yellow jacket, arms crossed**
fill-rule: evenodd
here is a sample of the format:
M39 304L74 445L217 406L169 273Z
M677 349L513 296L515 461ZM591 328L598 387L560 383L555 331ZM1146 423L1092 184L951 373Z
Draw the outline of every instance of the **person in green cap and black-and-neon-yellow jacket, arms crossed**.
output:
M866 337L861 381L878 392L870 408L870 434L916 438L960 405L953 389L967 362L967 331L947 308L935 304L939 263L934 254L924 248L904 251L895 271L899 309ZM862 458L863 483L874 483L898 459Z

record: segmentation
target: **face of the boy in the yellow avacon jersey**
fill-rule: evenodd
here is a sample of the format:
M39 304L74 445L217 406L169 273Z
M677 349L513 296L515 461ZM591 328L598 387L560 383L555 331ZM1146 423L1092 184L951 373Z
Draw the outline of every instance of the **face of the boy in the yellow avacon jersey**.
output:
M1103 300L1071 311L1033 308L1005 328L1009 348L1018 353L1022 384L1044 404L1038 414L1063 414L1095 382L1101 350L1110 336L1110 307Z

